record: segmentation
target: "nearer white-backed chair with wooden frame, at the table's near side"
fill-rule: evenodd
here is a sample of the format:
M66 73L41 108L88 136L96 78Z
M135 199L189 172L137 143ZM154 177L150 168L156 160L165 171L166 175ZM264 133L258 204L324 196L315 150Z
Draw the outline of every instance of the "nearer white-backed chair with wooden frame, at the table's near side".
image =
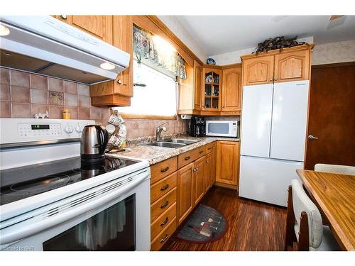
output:
M288 213L286 223L285 250L340 250L328 226L323 226L317 206L305 193L297 179L288 187Z

